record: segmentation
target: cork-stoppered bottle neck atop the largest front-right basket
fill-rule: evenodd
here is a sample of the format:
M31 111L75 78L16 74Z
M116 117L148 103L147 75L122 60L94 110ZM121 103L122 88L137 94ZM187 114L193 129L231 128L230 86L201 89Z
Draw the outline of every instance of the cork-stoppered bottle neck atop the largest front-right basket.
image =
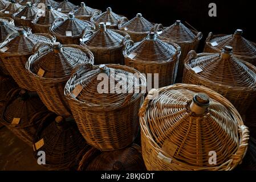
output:
M205 93L197 93L194 95L190 110L198 115L204 114L207 107L210 105L210 98Z

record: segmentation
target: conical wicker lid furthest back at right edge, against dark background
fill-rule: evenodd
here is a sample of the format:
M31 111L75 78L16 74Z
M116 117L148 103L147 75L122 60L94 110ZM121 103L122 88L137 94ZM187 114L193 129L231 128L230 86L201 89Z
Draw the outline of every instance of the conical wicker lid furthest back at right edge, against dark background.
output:
M225 46L231 46L233 47L234 55L255 57L255 45L251 43L249 40L243 38L241 35L242 30L237 29L233 35L217 36L216 38L211 39L210 43L217 43L216 46L214 45L214 48L217 48L220 51Z

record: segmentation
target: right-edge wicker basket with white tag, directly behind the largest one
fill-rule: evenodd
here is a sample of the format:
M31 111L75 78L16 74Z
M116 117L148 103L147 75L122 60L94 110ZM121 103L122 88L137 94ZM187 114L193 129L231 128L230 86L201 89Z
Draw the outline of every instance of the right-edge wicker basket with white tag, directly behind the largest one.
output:
M191 51L185 60L183 82L215 90L242 115L256 97L256 68L231 56L231 49L226 46L222 54Z

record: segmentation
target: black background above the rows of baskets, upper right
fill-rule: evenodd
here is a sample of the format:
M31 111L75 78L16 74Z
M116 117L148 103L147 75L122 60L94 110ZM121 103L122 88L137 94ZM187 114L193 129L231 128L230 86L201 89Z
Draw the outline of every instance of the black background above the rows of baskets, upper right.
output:
M70 2L80 5L81 1L70 0ZM176 19L180 19L182 23L186 21L203 33L204 38L200 49L210 31L213 34L233 34L237 28L240 28L243 30L244 38L256 42L256 2L254 0L84 0L84 2L87 6L103 12L107 7L111 7L114 13L124 15L128 19L141 13L149 21L162 23L164 26L170 26ZM217 5L217 17L208 15L210 10L208 5L211 2Z

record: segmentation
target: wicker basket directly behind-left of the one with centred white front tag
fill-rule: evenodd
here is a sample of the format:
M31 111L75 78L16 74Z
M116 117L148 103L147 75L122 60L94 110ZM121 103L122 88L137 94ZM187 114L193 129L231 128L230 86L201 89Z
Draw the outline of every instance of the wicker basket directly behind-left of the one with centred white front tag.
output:
M50 34L49 28L57 18L67 19L68 15L60 13L59 11L54 10L52 6L47 5L45 16L36 16L36 18L33 20L34 31L38 33Z

